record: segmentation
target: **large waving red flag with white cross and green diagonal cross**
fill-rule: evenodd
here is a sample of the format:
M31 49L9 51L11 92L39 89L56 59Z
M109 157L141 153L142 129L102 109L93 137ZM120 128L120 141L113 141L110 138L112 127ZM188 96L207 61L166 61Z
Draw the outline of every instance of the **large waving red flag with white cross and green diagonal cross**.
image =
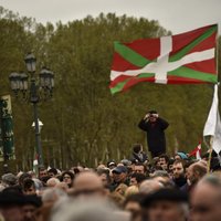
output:
M161 84L217 83L218 25L186 33L115 42L110 92L126 91L139 82Z

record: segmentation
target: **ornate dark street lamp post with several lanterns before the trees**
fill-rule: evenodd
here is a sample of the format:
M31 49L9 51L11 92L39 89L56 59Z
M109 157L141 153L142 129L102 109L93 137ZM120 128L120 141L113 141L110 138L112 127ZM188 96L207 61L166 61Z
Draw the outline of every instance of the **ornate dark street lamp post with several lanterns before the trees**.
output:
M38 103L41 99L46 101L48 98L52 97L54 88L54 74L46 67L43 67L39 73L39 78L36 78L36 59L32 53L29 53L25 56L24 62L27 64L27 70L30 75L30 82L29 75L27 75L25 73L18 74L17 72L11 73L9 75L9 80L11 82L11 90L14 92L15 97L19 97L19 94L21 93L22 97L24 99L28 99L33 105L38 165L43 166Z

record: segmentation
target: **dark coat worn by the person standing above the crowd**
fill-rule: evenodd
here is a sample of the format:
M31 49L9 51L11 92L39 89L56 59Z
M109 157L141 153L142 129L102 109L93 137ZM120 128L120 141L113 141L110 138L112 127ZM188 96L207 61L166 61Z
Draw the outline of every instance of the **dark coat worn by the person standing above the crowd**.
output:
M166 151L165 129L168 126L168 122L160 117L155 123L145 120L144 118L139 122L138 127L147 131L147 144L150 152Z

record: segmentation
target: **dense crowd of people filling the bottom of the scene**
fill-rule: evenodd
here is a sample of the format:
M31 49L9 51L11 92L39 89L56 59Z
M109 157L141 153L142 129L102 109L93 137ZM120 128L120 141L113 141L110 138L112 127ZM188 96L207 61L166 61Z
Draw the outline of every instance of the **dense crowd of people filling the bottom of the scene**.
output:
M221 173L208 155L151 160L140 144L131 157L96 168L40 168L0 185L1 221L220 221Z

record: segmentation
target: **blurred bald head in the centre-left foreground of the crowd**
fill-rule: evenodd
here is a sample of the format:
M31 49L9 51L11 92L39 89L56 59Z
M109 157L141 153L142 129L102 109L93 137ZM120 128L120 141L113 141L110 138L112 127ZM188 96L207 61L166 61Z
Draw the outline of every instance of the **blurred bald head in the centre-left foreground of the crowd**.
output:
M78 173L74 180L73 187L75 196L94 196L104 193L102 180L98 175L92 171Z

